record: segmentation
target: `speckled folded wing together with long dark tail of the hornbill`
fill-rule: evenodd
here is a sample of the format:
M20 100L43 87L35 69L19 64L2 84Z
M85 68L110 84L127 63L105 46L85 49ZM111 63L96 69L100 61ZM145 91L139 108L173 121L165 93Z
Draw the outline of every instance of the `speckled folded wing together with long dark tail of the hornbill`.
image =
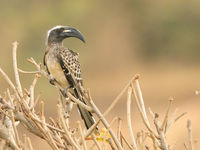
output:
M71 85L75 96L86 104L82 95L83 81L81 78L81 68L78 61L78 54L67 48L62 48L59 49L58 60L60 61L61 68L63 69L65 77ZM77 107L87 129L89 129L95 122L91 112L79 105L77 105Z

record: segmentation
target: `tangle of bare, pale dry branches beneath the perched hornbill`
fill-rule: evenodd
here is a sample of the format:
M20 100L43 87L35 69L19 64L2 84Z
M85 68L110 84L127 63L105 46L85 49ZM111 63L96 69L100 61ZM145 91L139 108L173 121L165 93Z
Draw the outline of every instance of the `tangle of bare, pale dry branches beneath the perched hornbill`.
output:
M171 150L174 149L173 145L167 141L167 133L171 126L178 121L185 113L180 115L176 114L176 110L170 115L170 108L173 102L173 98L169 99L169 105L166 109L165 116L161 119L159 114L154 113L150 108L146 110L145 101L143 100L142 91L139 83L139 75L135 75L129 83L124 87L120 94L115 98L112 104L106 109L105 112L101 112L92 100L89 90L83 89L83 96L88 100L88 105L85 105L78 99L76 99L69 92L66 93L69 97L67 103L63 104L63 100L58 98L58 104L55 109L57 110L58 119L50 118L46 119L44 115L44 102L40 101L39 95L34 93L35 85L37 84L40 76L44 76L49 79L49 75L42 69L42 65L35 62L33 58L28 59L36 67L36 71L27 72L17 67L17 42L13 43L13 68L15 83L11 81L10 77L0 68L0 72L4 79L10 85L9 89L5 90L4 96L0 97L0 150L2 149L34 149L31 144L31 139L26 135L21 139L18 133L18 125L21 124L32 134L45 140L52 149L55 150L88 150L88 149L133 149L133 150L149 150L149 149L161 149ZM32 84L29 89L25 89L21 85L19 73L35 74ZM58 92L62 89L59 85L55 84ZM116 116L112 121L105 119L105 116L115 107L121 97L127 94L127 127L129 131L130 141L124 137L124 133L121 131L122 122L121 119ZM132 130L131 121L131 103L135 100L138 111L142 118L145 128L141 129L141 132L135 134ZM36 109L36 105L39 103L39 110ZM89 129L82 129L80 122L77 121L77 130L72 130L69 126L70 111L73 105L80 105L89 110L97 116L96 123ZM48 106L46 106L48 107ZM151 114L153 125L150 124L150 118L148 118L147 112ZM134 120L134 119L133 119ZM113 122L118 121L117 131L112 129ZM104 128L99 130L99 133L95 132L96 126L99 123L104 125ZM191 122L188 121L188 144L184 144L186 150L194 150ZM185 134L187 135L187 134ZM147 139L152 142L149 144ZM92 142L92 147L91 146Z

